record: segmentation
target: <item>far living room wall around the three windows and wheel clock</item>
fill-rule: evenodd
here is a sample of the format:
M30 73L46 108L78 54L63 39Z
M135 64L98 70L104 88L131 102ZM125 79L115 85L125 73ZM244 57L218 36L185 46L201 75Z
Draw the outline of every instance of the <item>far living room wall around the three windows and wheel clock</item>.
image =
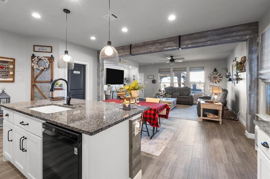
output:
M180 67L187 67L187 70L189 70L189 67L205 67L204 72L204 93L209 94L210 91L208 90L208 86L211 84L208 81L208 75L213 72L214 68L217 68L218 72L220 72L223 75L223 80L221 83L217 84L216 86L221 86L222 88L226 88L226 78L224 75L226 72L224 70L221 70L222 67L227 67L227 61L226 59L221 60L205 60L205 61L183 61L183 62L176 62L174 65L170 64L156 64L156 65L141 65L139 66L139 73L144 73L144 84L146 89L144 90L144 98L150 97L153 98L153 94L158 92L159 90L159 68L171 68L171 77L173 76L173 68L180 68ZM187 71L189 73L189 71ZM147 79L147 75L154 75L154 79L156 79L156 84L153 84L151 81L152 79ZM150 83L146 83L150 82ZM187 85L189 85L189 75L187 75ZM195 100L195 99L194 99Z

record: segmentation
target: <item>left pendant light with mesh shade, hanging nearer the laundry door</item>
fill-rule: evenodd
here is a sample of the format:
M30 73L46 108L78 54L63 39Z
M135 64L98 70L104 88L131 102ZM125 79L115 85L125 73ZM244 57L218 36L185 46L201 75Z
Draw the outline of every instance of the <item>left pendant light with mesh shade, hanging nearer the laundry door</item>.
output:
M65 53L58 58L58 68L73 70L74 60L67 51L67 14L70 14L70 10L64 9L63 11L66 13L66 50Z

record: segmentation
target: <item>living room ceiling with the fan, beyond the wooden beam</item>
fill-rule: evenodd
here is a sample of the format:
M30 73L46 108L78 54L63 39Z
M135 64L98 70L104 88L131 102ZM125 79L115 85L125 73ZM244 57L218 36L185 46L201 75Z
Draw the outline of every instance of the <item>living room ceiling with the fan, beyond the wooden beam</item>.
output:
M125 57L125 59L129 59L132 61L137 61L139 65L149 65L149 64L162 64L166 63L166 57L174 56L174 58L184 57L185 61L199 61L199 60L218 60L218 59L226 59L233 52L235 47L239 43L233 44L224 44L224 45L215 45L209 47L200 47L193 49L185 49L185 50L174 50L169 52L160 52L160 53L150 53L144 55L135 55ZM178 64L181 62L175 62Z

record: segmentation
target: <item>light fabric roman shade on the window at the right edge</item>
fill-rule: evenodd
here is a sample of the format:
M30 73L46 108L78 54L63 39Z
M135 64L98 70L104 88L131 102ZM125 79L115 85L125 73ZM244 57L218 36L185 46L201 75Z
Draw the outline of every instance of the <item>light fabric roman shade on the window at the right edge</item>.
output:
M270 27L261 35L259 78L270 81Z

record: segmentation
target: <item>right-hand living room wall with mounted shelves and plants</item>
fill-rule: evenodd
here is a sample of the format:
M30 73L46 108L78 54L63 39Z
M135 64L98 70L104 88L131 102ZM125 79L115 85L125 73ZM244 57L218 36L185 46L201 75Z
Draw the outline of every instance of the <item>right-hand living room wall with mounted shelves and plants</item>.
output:
M237 61L241 60L242 56L246 56L246 42L241 42L237 47L233 50L233 53L230 54L230 56L227 58L227 67L230 69L230 72L232 74L232 64L233 58L237 57ZM232 74L233 75L233 74ZM242 81L238 81L238 84L234 84L232 82L227 82L227 106L229 109L237 114L239 111L239 120L242 122L242 124L245 126L246 123L246 72L239 73L239 77L243 78ZM234 75L233 75L233 78Z

